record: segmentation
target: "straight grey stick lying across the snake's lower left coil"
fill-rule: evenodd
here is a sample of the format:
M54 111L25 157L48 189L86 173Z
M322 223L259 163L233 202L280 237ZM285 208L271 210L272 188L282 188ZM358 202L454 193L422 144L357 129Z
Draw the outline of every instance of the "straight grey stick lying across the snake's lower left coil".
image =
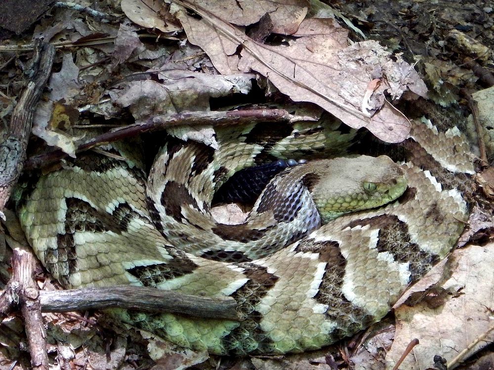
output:
M42 312L126 308L144 312L238 321L237 302L231 297L206 298L154 288L115 286L63 291L40 291Z

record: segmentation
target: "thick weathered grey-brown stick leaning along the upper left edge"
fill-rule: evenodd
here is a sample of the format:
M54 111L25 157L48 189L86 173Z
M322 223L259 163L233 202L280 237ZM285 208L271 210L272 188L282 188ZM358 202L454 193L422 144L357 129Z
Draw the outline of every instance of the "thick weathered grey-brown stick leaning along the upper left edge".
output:
M34 72L17 103L10 120L9 132L0 144L0 213L5 208L12 187L16 184L26 159L26 147L33 114L41 91L48 80L55 55L55 48L37 40L35 43ZM4 217L1 214L2 218Z

